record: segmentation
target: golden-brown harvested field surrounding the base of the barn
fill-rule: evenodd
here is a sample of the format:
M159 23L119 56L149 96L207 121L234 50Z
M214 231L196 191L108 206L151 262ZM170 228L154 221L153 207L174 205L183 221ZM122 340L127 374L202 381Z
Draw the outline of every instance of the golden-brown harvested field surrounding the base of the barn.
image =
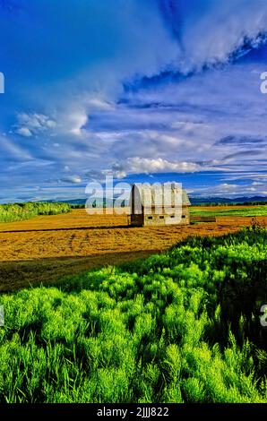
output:
M266 224L267 217L257 221ZM188 227L131 228L126 214L90 216L75 210L0 224L0 291L133 261L164 251L187 236L221 236L251 223L252 218L231 216Z

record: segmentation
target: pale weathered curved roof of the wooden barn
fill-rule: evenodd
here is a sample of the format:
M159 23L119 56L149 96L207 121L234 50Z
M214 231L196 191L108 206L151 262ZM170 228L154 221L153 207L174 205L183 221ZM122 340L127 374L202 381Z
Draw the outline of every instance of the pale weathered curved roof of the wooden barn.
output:
M168 185L167 190L163 190L165 185ZM135 200L141 201L144 207L162 206L162 203L171 207L181 204L183 206L191 205L188 194L181 189L181 185L177 183L165 185L135 184L132 187L132 193L134 193Z

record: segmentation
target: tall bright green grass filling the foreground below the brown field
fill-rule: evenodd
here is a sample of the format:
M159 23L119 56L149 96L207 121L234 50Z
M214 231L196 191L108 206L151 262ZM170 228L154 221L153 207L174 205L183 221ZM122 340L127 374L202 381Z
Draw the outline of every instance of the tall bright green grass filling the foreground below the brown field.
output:
M267 232L0 296L0 402L267 402Z

